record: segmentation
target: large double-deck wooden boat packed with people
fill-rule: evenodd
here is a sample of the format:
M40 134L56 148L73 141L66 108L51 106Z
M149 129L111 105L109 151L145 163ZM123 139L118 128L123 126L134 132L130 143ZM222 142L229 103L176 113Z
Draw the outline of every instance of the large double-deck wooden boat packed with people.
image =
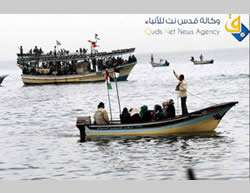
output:
M131 53L135 48L96 53L17 54L17 64L22 70L24 84L89 83L105 81L105 72L118 81L127 80L137 63ZM129 54L124 59L123 56ZM115 58L116 57L116 58Z

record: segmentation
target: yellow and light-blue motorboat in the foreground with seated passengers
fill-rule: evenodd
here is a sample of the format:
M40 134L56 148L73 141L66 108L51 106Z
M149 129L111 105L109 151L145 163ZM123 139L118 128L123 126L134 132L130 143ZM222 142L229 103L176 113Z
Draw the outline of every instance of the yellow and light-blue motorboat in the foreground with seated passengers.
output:
M102 136L159 136L169 134L213 132L223 116L238 102L213 105L185 116L137 124L121 124L119 120L108 125L96 125L90 116L77 117L81 141L88 137Z

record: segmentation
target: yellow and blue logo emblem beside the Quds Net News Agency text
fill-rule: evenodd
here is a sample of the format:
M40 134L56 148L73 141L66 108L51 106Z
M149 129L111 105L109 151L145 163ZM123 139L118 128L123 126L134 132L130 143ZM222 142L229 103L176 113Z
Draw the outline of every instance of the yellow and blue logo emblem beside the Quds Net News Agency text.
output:
M225 24L227 32L231 33L239 42L247 37L249 30L240 22L240 16L232 18L232 14L229 14L229 21Z

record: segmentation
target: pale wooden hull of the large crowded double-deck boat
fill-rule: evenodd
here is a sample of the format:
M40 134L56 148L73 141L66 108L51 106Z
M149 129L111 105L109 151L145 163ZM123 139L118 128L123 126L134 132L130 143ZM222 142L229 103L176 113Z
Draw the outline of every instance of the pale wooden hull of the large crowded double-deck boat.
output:
M123 66L116 67L120 71L118 81L127 80L129 73L135 66L134 63L126 64ZM114 77L113 69L109 72L111 79ZM90 83L90 82L101 82L105 81L105 71L100 72L89 72L84 74L75 75L22 75L22 81L24 84L60 84L60 83Z

